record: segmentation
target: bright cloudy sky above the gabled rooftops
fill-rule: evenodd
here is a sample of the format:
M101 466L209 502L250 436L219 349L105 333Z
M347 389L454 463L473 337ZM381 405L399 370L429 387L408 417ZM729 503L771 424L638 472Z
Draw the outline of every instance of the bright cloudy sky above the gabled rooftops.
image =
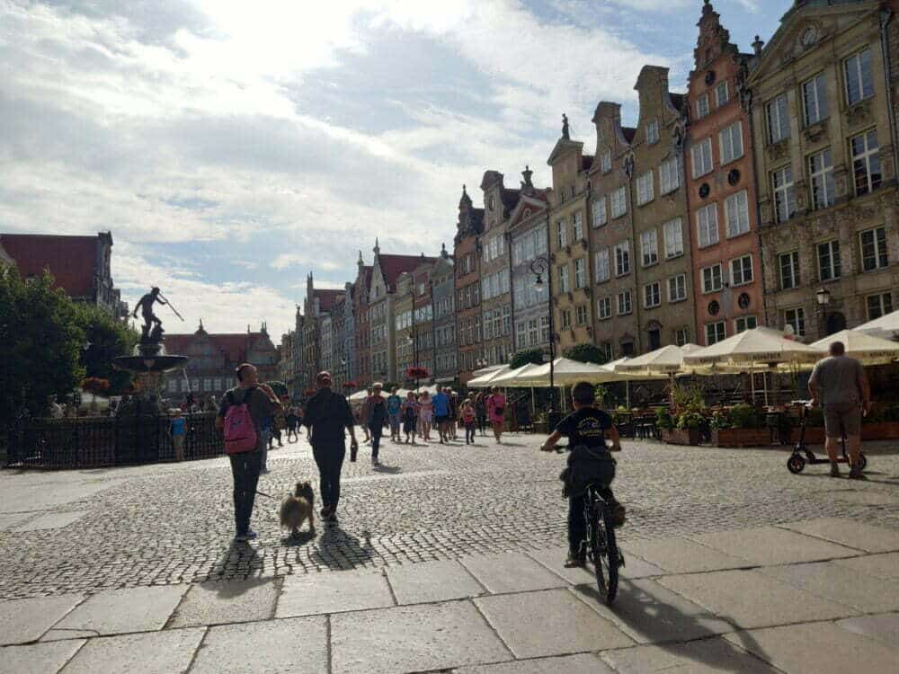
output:
M717 0L731 40L788 0ZM361 251L450 252L485 170L539 187L565 112L636 121L645 64L683 91L701 0L0 0L0 232L111 231L169 333L280 341ZM163 309L165 311L165 308Z

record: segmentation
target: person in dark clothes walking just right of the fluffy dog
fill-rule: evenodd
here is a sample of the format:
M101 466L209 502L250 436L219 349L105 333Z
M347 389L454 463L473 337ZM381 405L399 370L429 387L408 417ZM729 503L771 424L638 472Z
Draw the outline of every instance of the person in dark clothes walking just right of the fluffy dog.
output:
M303 425L309 431L312 456L318 466L318 491L322 499L322 519L337 521L337 501L340 501L340 474L343 458L346 457L346 435L350 431L350 448L353 453L359 448L352 419L350 404L343 395L331 390L330 372L319 372L316 376L318 392L306 404Z

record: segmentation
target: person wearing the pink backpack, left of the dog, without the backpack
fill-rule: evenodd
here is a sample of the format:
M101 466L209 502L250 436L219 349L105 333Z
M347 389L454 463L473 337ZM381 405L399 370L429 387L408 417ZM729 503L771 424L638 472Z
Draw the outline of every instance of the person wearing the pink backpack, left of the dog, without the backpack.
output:
M262 432L263 422L280 408L278 397L267 384L259 383L256 368L249 363L237 366L235 370L237 386L227 391L218 408L216 428L225 428L225 417L231 405L246 404L256 430L256 447L248 452L231 454L231 474L234 476L234 519L236 524L235 540L244 542L256 537L250 528L250 516L253 514L253 503L256 498L256 485L259 483L259 472L262 469L263 449L267 440Z

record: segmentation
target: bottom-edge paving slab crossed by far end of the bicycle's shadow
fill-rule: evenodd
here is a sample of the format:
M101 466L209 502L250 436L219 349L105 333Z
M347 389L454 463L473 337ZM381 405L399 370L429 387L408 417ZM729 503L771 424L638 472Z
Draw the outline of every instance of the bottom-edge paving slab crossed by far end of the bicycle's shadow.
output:
M652 674L653 672L678 672L678 674L775 674L765 662L752 653L734 646L723 637L702 639L688 643L646 645L617 651L603 652L619 674Z

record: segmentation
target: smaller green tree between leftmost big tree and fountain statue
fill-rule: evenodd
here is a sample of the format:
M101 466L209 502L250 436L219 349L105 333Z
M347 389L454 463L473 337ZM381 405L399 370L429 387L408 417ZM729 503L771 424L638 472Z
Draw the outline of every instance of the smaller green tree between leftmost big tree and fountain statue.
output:
M76 315L78 326L85 333L86 349L81 356L85 374L109 379L109 395L125 393L131 384L131 373L113 368L112 359L130 355L140 335L96 305L76 305Z

